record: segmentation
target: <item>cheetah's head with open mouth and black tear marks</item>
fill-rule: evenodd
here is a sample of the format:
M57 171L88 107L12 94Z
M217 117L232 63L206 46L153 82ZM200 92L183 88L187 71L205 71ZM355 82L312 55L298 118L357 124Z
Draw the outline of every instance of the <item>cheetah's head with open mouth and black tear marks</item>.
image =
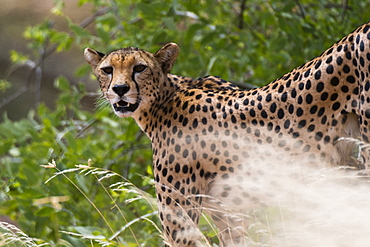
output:
M179 47L169 43L155 54L133 47L108 54L86 48L84 56L116 115L129 117L159 97L178 53Z

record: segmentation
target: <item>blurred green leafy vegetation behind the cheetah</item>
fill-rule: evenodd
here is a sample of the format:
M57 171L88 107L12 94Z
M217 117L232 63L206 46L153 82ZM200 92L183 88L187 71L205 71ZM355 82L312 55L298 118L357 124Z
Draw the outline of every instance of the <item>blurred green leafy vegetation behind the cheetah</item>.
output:
M0 246L162 241L150 143L95 103L85 47L176 42L174 74L262 86L368 22L369 9L369 0L3 0Z

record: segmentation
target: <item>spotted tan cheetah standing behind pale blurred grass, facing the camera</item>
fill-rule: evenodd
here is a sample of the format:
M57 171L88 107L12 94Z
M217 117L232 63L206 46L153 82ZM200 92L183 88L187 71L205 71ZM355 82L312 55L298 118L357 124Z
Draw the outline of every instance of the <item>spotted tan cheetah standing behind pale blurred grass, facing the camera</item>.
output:
M108 54L85 49L114 113L134 118L151 140L168 245L200 246L197 225L206 210L221 246L245 246L248 219L232 213L268 196L245 187L232 194L229 184L263 179L269 169L259 170L255 164L261 160L304 158L307 166L367 168L366 150L341 138L369 143L369 40L367 23L320 56L249 91L215 76L170 74L179 54L174 43L154 54L133 47Z

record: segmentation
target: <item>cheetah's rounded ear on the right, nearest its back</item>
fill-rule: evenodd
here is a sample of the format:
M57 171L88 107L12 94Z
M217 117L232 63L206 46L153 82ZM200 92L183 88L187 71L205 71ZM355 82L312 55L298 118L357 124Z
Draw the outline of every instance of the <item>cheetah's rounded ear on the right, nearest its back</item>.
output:
M164 73L169 73L172 69L173 64L177 56L179 55L180 48L175 43L168 43L159 49L154 57L157 58L158 62L162 66Z

